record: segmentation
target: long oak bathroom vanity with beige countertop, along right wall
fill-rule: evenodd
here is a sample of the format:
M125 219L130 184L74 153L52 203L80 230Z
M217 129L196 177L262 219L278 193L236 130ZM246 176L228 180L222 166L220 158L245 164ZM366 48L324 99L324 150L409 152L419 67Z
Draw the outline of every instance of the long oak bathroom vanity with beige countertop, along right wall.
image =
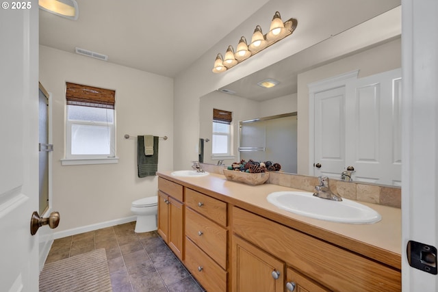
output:
M159 207L159 234L207 291L401 291L400 209L364 203L380 222L327 222L266 200L297 189L170 173L157 173L160 200L178 189L181 209Z

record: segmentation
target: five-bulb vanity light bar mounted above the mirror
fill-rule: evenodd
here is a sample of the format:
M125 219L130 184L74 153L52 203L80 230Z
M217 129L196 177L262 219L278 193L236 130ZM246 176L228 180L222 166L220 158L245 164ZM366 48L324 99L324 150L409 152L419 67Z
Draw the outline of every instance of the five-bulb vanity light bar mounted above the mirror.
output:
M268 34L263 35L260 25L257 25L254 29L253 37L251 38L249 46L246 42L246 38L242 36L237 44L235 53L231 45L228 46L225 58L218 53L216 61L214 62L213 72L225 72L227 69L240 64L240 62L243 62L249 57L263 51L263 49L270 47L279 40L283 40L283 38L290 36L294 32L297 25L298 21L295 18L290 18L283 23L283 21L281 21L280 12L275 12ZM231 54L233 54L234 57L231 57Z

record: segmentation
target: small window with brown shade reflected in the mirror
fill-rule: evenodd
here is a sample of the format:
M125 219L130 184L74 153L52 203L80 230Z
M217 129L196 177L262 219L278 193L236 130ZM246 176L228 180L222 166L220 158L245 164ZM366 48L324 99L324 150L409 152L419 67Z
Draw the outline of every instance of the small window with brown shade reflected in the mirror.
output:
M211 156L231 156L231 111L213 109L213 135L211 138Z

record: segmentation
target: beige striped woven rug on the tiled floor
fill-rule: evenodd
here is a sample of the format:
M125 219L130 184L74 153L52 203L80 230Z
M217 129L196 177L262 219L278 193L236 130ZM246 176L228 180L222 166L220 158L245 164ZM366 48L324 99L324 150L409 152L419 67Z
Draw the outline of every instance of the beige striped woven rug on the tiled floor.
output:
M105 248L47 263L40 291L112 291Z

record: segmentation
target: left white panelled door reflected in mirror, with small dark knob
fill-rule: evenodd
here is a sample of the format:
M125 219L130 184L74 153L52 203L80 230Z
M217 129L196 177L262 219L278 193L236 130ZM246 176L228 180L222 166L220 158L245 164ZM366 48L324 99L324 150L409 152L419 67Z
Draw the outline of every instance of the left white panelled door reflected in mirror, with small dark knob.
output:
M339 178L345 166L345 86L316 92L315 176Z

